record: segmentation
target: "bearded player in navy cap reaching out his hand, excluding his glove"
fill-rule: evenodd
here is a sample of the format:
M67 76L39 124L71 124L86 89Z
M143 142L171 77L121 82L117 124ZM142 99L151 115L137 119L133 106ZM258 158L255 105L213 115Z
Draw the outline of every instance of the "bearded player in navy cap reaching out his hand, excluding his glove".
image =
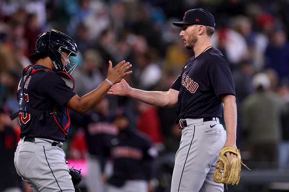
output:
M211 45L215 18L203 9L185 13L180 36L195 56L167 92L131 88L125 80L109 94L129 96L160 107L176 106L176 123L182 129L176 153L171 192L222 192L223 184L213 181L218 153L223 146L236 148L235 88L229 61ZM221 103L227 131L219 124ZM227 154L229 155L229 154ZM231 154L234 155L233 153Z

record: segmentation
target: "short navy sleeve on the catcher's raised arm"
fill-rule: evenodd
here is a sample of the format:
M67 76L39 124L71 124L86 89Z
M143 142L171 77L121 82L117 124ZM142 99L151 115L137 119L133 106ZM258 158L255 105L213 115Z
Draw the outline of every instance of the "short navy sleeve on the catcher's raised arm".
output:
M76 93L65 84L57 74L45 75L38 84L39 92L51 97L57 104L63 106Z

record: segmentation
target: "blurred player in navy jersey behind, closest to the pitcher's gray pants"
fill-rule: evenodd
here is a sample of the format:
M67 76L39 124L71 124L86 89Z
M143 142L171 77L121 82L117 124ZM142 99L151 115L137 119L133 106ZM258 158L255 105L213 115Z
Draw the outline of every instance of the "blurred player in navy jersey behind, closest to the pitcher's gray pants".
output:
M114 123L119 133L108 140L113 174L107 192L152 192L149 181L155 176L158 151L145 134L131 126L132 112L117 108Z

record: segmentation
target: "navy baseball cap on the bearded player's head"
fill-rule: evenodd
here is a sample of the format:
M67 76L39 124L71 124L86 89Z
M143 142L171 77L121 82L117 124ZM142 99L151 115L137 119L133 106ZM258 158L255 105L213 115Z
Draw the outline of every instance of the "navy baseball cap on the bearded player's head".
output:
M204 9L191 9L185 13L181 22L173 23L178 27L182 27L183 24L197 24L215 28L215 17Z

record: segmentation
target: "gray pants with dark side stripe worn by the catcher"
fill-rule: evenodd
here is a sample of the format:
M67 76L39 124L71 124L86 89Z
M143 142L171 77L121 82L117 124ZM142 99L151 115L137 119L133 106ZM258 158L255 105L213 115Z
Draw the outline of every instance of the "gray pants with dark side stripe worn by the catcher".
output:
M46 140L18 143L14 164L33 192L74 192L65 152Z

